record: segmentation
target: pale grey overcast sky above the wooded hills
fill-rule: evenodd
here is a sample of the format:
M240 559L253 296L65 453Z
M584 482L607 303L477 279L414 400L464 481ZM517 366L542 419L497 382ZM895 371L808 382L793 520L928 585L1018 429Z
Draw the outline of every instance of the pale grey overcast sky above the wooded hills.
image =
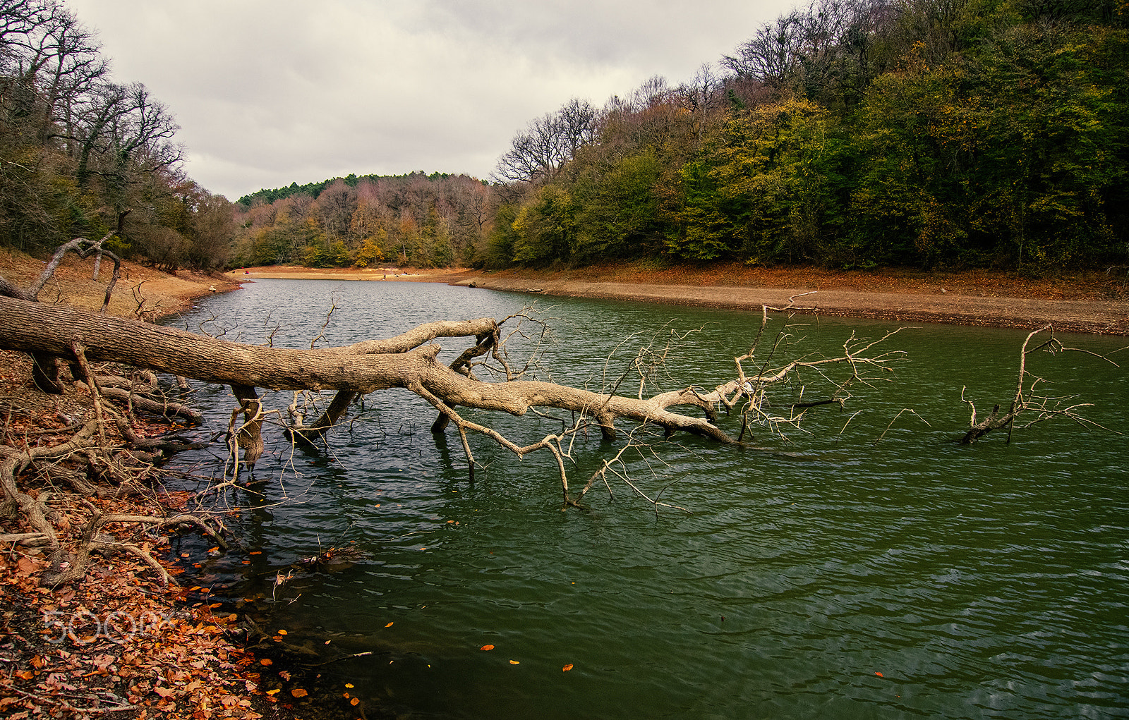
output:
M793 0L65 0L119 82L181 125L189 175L262 187L412 170L487 178L570 97L690 80Z

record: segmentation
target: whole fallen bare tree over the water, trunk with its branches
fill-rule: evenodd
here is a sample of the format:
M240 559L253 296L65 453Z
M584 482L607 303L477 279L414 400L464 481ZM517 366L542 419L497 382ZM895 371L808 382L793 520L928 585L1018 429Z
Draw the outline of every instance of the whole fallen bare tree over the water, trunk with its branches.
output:
M531 379L537 369L546 328L539 324L535 333L525 330L523 323L533 321L527 313L501 322L487 317L426 323L395 337L366 340L341 348L288 350L247 345L132 319L96 316L64 306L34 302L27 296L0 297L0 314L8 321L5 330L0 331L0 346L59 357L72 354L75 348L81 348L84 362L124 362L137 368L230 386L238 399L228 429L229 448L235 460L230 471L233 476L238 472L238 450L243 450L244 466L254 465L263 451L261 432L265 415L280 414L279 411L264 409L256 388L295 392L295 399L288 409L291 420L286 428L291 439L305 442L317 441L340 424L358 396L404 388L438 411L439 419L434 431L441 432L449 424L455 425L472 477L476 460L470 434L481 434L518 457L539 450L548 451L555 457L564 501L571 503L566 460L571 459L577 438L589 428L598 428L605 440L614 440L616 422L629 421L636 428L662 428L667 437L681 431L725 445L737 445L744 440L750 424L778 432L781 424L798 427L808 407L841 405L849 397L851 385L872 379L865 369L889 370L886 363L898 354L867 354L882 341L861 341L852 335L844 343L844 352L840 357L804 357L770 365L776 355L782 355L788 350L794 330L789 327L776 339L771 352L763 359L758 358L760 366L746 371L743 363L752 360L758 352L769 310L786 311L791 307L763 309L758 340L747 353L735 358L736 378L712 390L700 386L674 390L659 388L658 374L663 372L672 350L686 337L686 334L674 331L669 331L665 343L656 339L639 350L620 377L609 378L609 368L605 368L603 386L598 389L569 387L535 377ZM515 336L534 345L532 355L524 362L515 361L509 355L507 340ZM439 339L469 339L472 344L453 362L445 365L438 361L441 349L436 341ZM846 377L831 380L826 368L832 365L847 368ZM768 412L768 388L795 389L799 384L799 396L803 398L807 385L800 383L800 374L807 371L814 371L819 380L830 381L829 397L797 404L787 418ZM479 376L489 376L490 381ZM638 389L637 396L618 394L624 381ZM656 388L654 395L645 395L648 387ZM335 390L333 402L310 425L304 424L308 409L299 401L307 390ZM718 425L717 405L732 411L742 402L742 433L734 438ZM545 410L564 411L572 420L562 421L558 432L519 442L489 424L467 419L458 407L515 416L524 416L531 411L539 415ZM680 407L698 409L703 416L679 412ZM800 409L799 412L796 409ZM239 414L243 415L242 422L238 421ZM629 446L641 445L642 441L633 433L634 430L629 433Z

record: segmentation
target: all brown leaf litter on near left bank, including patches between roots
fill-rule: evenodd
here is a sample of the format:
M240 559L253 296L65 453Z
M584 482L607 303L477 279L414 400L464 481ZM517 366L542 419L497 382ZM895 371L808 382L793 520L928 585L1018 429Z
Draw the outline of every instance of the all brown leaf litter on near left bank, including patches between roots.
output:
M0 429L15 448L55 445L73 432L68 415L89 411L76 395L34 392L28 365L0 352ZM158 516L186 500L183 493L151 492L82 499L55 492L43 477L20 482L34 497L54 492L50 519L64 544L77 542L88 524L84 500L107 515ZM25 529L0 518L0 534ZM135 524L108 524L104 530L157 556L170 574L184 572L160 557L166 538L148 536ZM0 718L275 714L259 692L254 656L231 632L236 616L217 615L218 604L195 602L203 594L161 587L152 568L129 554L100 557L82 582L56 588L40 587L47 565L42 550L0 543Z

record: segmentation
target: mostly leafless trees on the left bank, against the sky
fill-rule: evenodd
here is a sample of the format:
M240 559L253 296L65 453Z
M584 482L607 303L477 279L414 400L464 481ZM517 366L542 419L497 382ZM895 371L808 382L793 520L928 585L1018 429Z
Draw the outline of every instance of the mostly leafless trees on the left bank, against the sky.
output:
M0 0L0 244L75 237L165 269L224 265L230 203L189 179L173 115L119 84L97 38L56 0Z

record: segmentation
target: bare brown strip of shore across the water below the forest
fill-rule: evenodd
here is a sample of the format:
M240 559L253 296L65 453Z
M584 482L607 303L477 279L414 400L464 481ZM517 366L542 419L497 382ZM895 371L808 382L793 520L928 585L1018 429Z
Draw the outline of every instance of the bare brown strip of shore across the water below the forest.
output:
M570 270L244 267L231 282L256 278L445 282L531 295L631 300L760 313L764 306L837 317L948 323L1129 335L1129 280L1124 272L960 273L895 269L829 271L739 264L648 267L622 264Z

